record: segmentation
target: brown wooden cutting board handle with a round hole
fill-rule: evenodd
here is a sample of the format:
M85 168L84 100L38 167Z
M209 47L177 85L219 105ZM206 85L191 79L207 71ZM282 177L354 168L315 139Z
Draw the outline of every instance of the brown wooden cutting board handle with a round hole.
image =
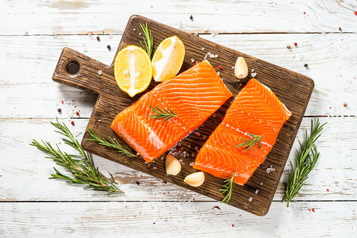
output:
M67 47L62 50L52 79L97 94L108 93L119 88L116 85L112 66Z

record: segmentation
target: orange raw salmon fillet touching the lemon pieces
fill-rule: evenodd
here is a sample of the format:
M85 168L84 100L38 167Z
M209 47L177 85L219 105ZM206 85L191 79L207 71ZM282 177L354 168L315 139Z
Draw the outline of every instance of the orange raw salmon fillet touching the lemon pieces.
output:
M112 122L112 129L148 163L200 126L232 94L205 60L144 94ZM178 117L153 119L151 107Z

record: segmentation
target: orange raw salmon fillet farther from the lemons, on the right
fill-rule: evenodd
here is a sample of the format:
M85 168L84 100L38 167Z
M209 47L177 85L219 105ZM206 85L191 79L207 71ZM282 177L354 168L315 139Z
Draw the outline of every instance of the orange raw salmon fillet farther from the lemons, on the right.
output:
M281 126L291 116L288 108L276 95L259 81L250 79L227 110L198 152L194 168L219 178L229 178L236 171L234 182L244 185L271 151ZM254 150L245 145L252 135L263 135ZM239 176L238 176L239 175Z

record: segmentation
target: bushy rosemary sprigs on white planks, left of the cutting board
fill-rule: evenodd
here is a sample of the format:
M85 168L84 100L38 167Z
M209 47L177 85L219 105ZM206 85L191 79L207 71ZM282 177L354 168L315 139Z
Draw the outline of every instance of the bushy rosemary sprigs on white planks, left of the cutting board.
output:
M65 141L65 144L73 147L79 154L67 154L66 152L62 152L58 145L57 149L55 149L47 141L41 140L41 144L36 140L32 140L32 143L29 145L37 147L39 150L50 154L51 156L46 158L53 159L56 164L67 168L67 171L72 173L72 177L65 176L53 167L56 173L51 174L52 177L50 177L50 179L60 178L66 180L69 184L85 184L88 185L88 187L84 187L85 189L90 188L93 190L109 192L108 196L123 193L123 191L119 190L119 188L114 185L118 183L115 182L112 174L109 173L111 178L107 178L97 167L95 167L92 154L87 153L82 149L79 141L74 138L65 124L60 124L58 119L57 122L51 122L51 124L60 129L60 131L55 132L65 135L66 138L62 139Z

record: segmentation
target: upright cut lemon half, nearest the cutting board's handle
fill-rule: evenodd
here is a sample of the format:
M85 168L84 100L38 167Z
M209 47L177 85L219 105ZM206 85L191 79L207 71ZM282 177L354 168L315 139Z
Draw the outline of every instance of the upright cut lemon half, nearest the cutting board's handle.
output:
M128 46L116 55L114 74L119 88L133 97L150 84L152 69L149 55L140 47Z

